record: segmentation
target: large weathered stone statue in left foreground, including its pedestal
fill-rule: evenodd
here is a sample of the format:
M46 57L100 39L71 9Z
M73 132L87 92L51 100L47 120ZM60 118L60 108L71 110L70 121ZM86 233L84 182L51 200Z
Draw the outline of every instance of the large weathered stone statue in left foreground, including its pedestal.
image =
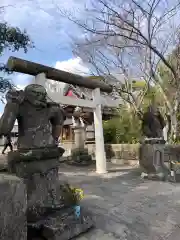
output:
M0 119L0 134L8 135L18 121L17 151L8 155L10 173L23 178L27 187L27 223L34 236L67 240L92 226L88 216L77 219L73 203L59 182L58 147L65 113L56 103L47 102L43 86L28 85L24 91L10 90Z

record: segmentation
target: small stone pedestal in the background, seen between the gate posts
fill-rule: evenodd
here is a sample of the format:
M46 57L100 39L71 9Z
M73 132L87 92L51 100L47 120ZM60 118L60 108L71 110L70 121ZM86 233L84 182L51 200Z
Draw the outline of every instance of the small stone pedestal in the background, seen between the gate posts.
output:
M85 128L81 126L74 127L75 148L71 151L71 160L67 161L70 165L87 166L92 164L92 157L88 153L85 145Z

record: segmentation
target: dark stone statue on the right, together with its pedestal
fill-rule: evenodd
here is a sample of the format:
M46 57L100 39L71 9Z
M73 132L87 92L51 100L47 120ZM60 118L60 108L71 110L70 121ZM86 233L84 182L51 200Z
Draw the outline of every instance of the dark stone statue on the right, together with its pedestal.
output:
M160 111L150 105L142 119L142 132L146 138L142 141L139 151L139 163L143 169L143 176L148 179L168 179L169 169L164 164L164 127L165 121Z

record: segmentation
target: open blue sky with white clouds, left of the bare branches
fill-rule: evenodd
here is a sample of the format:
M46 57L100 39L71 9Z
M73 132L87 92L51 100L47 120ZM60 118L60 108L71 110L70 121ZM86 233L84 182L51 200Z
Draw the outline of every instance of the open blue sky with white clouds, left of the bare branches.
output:
M6 51L0 57L0 62L6 62L9 56L17 56L65 71L88 72L82 60L73 56L70 44L69 35L77 36L82 32L62 18L59 12L59 9L65 9L81 17L84 0L1 0L1 6L7 7L0 13L0 20L26 29L35 44L35 49L29 49L26 54L23 51ZM27 85L31 79L31 76L23 74L12 76L13 82L20 88ZM0 113L3 108L3 104L0 104Z

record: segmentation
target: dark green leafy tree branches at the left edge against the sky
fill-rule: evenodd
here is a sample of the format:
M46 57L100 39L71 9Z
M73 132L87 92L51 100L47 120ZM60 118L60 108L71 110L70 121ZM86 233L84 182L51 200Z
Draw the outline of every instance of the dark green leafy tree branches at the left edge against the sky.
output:
M23 49L26 53L28 48L32 48L33 42L31 41L27 32L21 31L17 27L9 26L8 23L1 22L0 23L0 57L3 55L5 50L9 50L12 52L19 51ZM9 88L12 87L11 81L9 77L5 77L5 75L11 74L6 68L6 65L0 64L0 92L4 93Z

